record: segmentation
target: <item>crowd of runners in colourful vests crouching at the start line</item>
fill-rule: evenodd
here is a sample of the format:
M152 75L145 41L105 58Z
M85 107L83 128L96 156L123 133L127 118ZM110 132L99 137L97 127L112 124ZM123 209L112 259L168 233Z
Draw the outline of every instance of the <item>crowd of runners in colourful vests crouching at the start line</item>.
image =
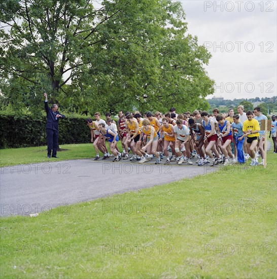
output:
M140 112L119 111L117 122L110 113L105 116L106 121L96 112L96 120L86 119L96 152L94 160L100 159L100 151L103 160L114 157L113 161L123 159L138 163L155 159L155 164L160 164L163 156L166 158L164 164L176 162L192 165L191 159L195 156L198 166L237 162L244 164L250 158L252 166L264 162L265 131L260 127L261 120L267 117L259 107L245 113L244 107L238 106L237 114L231 108L228 115L219 114L218 109L213 110L213 115L198 110L192 114L177 114L175 108L164 115L160 112L147 112L142 116ZM274 153L277 153L276 125L276 117L273 115L270 136ZM122 152L117 146L119 141ZM130 151L132 156L129 155ZM261 162L258 161L259 156Z

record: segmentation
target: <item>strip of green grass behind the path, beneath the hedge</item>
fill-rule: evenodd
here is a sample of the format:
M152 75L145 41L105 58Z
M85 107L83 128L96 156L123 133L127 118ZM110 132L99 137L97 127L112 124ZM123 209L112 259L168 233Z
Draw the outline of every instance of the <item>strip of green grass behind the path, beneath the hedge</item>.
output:
M47 158L47 146L1 149L0 167L17 164L51 162L53 160L61 161L95 157L95 151L92 144L60 145L59 147L60 149L65 150L57 152L58 159Z

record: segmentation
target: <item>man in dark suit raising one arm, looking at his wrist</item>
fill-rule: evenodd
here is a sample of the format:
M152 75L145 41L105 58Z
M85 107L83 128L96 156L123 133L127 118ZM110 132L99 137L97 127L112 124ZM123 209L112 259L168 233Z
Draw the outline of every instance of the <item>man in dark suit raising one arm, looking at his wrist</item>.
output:
M58 112L58 105L52 104L51 109L48 107L47 93L44 93L45 101L45 111L47 114L47 123L46 123L46 135L47 135L47 157L57 158L57 148L58 148L58 137L59 137L59 119L65 118L64 115Z

